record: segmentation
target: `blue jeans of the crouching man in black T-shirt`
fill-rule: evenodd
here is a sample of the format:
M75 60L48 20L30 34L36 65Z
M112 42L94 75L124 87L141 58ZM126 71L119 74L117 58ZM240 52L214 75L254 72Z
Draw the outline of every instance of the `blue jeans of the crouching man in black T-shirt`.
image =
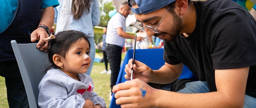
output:
M186 87L180 91L179 93L207 93L209 92L207 82L196 81L196 82L188 82L186 83ZM256 106L256 98L245 94L244 98L244 108L255 108Z

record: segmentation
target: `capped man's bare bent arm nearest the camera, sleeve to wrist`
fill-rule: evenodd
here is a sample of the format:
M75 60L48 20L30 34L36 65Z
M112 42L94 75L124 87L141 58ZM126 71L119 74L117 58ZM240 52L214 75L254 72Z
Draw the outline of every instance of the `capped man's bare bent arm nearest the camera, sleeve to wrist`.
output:
M169 105L174 107L242 108L248 72L249 67L215 70L217 92L200 94L180 94L175 92L166 94L161 92L158 94L160 98L156 99L156 104L162 103L159 107L166 107L163 102L170 102Z

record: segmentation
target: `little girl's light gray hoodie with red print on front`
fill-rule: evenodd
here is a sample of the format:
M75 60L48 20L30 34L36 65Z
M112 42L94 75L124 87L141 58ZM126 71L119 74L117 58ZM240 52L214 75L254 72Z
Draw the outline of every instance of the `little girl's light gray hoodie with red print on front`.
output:
M50 69L38 88L40 108L82 108L86 99L106 108L105 100L93 91L92 78L78 74L75 80L59 69Z

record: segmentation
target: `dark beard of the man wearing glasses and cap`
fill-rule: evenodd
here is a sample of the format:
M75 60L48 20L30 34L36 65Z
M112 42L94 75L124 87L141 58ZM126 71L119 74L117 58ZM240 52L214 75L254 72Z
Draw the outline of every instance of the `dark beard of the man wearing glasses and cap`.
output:
M173 16L174 16L174 21L173 21L173 24L171 25L172 33L169 34L167 32L161 32L160 31L158 34L154 34L154 36L158 37L158 36L162 36L164 34L168 34L168 37L166 37L164 39L166 42L173 42L174 40L176 40L177 36L180 35L182 20L176 14L173 14Z

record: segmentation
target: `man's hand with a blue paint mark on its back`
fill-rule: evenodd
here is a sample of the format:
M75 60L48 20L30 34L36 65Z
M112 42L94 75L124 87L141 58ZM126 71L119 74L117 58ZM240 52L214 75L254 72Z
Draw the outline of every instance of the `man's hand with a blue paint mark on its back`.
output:
M121 108L152 108L156 102L154 96L158 96L156 89L140 79L117 84L112 91L116 104L121 105Z

